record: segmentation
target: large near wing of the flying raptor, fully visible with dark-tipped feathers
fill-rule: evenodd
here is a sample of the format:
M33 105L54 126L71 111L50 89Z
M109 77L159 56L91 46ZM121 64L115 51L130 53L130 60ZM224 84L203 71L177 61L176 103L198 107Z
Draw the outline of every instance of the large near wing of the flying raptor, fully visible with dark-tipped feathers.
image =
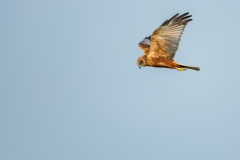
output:
M149 56L161 56L173 59L185 26L192 19L188 13L174 15L166 20L151 35Z

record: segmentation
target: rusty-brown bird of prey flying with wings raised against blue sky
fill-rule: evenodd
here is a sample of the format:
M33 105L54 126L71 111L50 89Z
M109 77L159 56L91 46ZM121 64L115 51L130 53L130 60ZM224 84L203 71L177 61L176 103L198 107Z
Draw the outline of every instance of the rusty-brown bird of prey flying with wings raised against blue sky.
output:
M192 20L189 19L190 17L189 13L176 14L159 26L152 35L139 42L138 45L144 53L137 60L139 68L150 66L179 71L185 71L186 69L199 71L199 67L187 66L174 61L184 28Z

